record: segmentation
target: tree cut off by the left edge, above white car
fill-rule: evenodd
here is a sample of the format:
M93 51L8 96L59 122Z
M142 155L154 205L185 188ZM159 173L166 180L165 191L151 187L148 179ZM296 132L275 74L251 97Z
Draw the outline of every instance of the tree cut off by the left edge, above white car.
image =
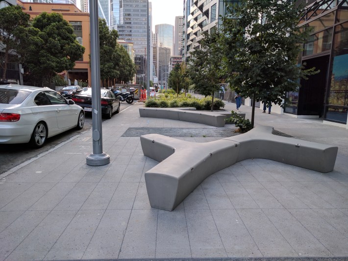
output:
M0 68L2 79L6 78L7 64L20 62L30 16L19 5L0 9ZM22 45L21 45L22 43Z

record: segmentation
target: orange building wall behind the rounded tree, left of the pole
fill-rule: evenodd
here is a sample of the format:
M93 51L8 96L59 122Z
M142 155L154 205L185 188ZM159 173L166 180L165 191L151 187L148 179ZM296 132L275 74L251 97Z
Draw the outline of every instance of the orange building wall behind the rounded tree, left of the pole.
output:
M69 78L74 80L87 81L91 86L91 68L89 63L90 54L90 20L89 13L83 13L74 4L60 4L60 3L34 3L22 2L17 0L17 4L22 6L23 12L30 15L30 19L35 18L43 12L60 13L68 22L81 22L82 24L82 45L85 47L83 54L83 61L76 61L74 69L69 72Z

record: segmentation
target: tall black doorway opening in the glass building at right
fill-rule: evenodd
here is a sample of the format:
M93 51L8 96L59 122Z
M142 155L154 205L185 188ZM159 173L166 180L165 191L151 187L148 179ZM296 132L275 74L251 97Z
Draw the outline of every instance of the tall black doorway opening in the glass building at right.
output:
M329 55L303 60L305 68L315 67L320 73L301 80L298 95L298 115L318 115L323 117L325 89L329 67Z

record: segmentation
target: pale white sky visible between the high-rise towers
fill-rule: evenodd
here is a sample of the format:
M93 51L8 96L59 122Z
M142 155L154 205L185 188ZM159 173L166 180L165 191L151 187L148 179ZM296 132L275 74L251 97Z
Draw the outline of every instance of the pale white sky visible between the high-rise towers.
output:
M169 24L174 26L175 16L183 15L183 0L149 0L152 2L152 31L155 25ZM80 8L80 0L76 0L76 5Z

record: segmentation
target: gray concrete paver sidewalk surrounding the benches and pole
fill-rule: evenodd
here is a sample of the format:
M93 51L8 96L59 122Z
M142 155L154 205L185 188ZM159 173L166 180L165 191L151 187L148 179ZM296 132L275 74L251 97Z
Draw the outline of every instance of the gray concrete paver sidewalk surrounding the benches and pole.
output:
M1 179L0 260L348 257L348 130L256 111L256 125L338 145L334 171L249 159L211 175L169 212L149 206L144 173L157 162L123 133L217 128L140 118L140 106L102 124L110 164L86 165L87 131ZM251 108L241 111L250 117ZM220 139L203 135L183 139Z

